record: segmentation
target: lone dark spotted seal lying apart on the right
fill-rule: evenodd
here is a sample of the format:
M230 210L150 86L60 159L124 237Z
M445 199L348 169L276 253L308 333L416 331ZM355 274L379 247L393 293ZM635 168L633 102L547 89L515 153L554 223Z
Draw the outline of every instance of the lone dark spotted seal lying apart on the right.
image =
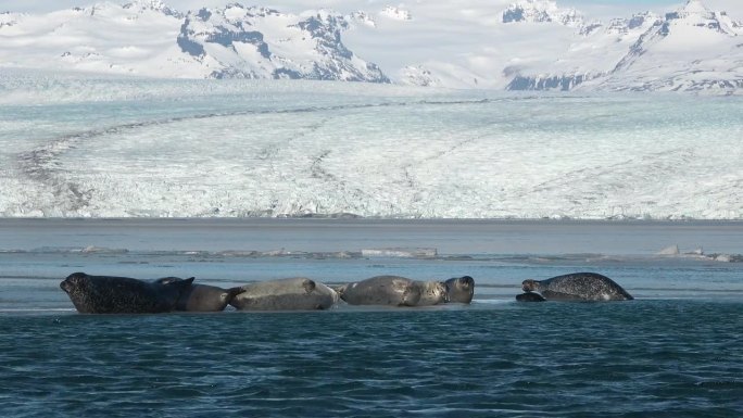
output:
M606 276L572 273L546 280L524 280L525 292L540 292L547 301L631 301L634 297Z

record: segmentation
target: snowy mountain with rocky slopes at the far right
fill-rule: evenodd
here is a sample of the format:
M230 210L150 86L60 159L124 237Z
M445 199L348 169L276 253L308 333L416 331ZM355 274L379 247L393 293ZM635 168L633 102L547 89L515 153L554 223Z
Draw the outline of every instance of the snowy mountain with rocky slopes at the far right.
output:
M743 88L741 25L698 0L656 16L615 20L574 42L558 63L518 75L512 90L572 88L736 91Z

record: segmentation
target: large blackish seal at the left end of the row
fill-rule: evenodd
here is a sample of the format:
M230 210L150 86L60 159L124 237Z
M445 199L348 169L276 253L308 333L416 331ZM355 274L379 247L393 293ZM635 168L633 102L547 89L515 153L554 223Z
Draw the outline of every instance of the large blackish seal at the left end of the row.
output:
M73 273L61 283L81 314L159 314L175 309L180 293L193 278L153 283L129 277Z

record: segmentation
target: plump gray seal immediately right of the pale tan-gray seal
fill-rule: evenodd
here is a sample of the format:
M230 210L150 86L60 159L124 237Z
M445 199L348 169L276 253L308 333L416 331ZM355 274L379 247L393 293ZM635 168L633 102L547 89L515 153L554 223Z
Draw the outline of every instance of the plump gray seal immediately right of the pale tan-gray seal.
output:
M416 306L420 291L419 284L400 276L375 276L338 288L340 297L349 305Z

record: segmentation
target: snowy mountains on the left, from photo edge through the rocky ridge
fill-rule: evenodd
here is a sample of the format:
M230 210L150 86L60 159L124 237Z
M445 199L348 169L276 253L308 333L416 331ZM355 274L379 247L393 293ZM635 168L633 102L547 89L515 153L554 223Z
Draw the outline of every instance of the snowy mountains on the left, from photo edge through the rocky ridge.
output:
M303 15L228 4L180 13L160 0L100 3L45 16L5 13L7 66L39 65L189 78L307 78L389 83L341 41L330 12ZM10 51L9 51L10 50Z

